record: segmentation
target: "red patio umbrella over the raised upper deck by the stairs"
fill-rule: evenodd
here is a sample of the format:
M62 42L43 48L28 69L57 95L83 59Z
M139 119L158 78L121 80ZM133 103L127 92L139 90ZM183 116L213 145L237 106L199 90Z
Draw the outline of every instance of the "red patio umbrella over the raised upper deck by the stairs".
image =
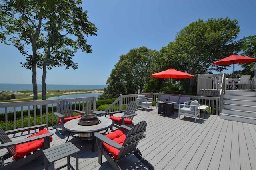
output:
M244 57L240 55L230 55L229 57L226 57L224 59L220 59L219 61L215 61L212 64L215 65L230 65L233 64L233 73L232 73L232 78L234 78L234 64L240 64L240 63L251 63L255 62L255 58L251 57Z

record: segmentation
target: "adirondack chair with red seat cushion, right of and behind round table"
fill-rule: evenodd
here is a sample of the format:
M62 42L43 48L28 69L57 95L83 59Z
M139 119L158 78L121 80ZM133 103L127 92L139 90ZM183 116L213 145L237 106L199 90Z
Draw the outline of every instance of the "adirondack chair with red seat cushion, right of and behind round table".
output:
M126 106L126 109L124 111L110 112L109 117L114 122L113 126L116 128L120 128L121 125L126 125L128 127L134 127L134 124L132 123L132 119L134 116L137 115L137 113L135 113L136 109L137 109L137 106L136 106L135 101L131 101L130 103L128 103L128 105ZM113 116L113 114L115 114L115 113L124 113L124 115L121 117L116 117L116 116ZM111 128L111 130L112 130L112 128Z

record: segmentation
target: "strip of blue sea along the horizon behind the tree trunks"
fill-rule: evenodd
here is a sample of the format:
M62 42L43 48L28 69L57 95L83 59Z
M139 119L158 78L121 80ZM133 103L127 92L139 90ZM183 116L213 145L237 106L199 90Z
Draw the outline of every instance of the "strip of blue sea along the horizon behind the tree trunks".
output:
M46 85L46 90L103 90L107 85ZM42 91L40 84L37 85L38 91ZM33 90L32 84L2 84L0 91L22 91Z

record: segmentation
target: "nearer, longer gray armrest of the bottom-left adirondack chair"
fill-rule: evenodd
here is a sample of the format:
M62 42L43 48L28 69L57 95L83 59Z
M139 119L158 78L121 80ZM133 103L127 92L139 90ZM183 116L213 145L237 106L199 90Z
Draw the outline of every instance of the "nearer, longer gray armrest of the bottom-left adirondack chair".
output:
M52 136L52 135L53 135L53 133L46 133L46 134L42 134L42 135L39 135L39 136L31 137L31 138L25 138L25 139L22 139L22 140L15 140L15 141L12 141L12 142L3 143L3 144L0 144L0 149L8 148L10 146L16 146L18 144L27 143L27 142L31 142L31 141L42 139L42 138L48 138L48 137L50 138L50 136Z

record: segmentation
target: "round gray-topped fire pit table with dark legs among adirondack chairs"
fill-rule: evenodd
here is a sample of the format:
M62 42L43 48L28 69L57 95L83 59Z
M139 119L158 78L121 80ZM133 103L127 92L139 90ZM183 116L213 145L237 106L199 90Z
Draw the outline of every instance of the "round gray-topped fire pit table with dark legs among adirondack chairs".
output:
M94 133L107 130L114 125L114 122L107 117L98 117L99 124L83 126L78 124L79 119L81 118L72 119L66 122L63 126L63 129L68 132L68 138L69 136L72 136L73 138L79 138L81 140L91 140L92 152L94 152ZM75 136L75 134L79 135ZM89 135L86 136L87 134ZM68 142L68 138L66 142Z

